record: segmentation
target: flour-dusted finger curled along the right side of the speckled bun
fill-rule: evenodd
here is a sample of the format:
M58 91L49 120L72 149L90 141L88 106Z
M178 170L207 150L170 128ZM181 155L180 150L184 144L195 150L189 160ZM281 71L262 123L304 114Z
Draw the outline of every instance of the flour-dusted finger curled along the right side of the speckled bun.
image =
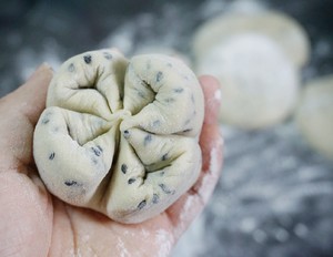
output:
M223 141L219 131L216 111L220 105L220 85L211 76L203 76L200 82L205 96L205 121L200 138L203 169L194 186L167 210L176 238L206 205L222 167Z

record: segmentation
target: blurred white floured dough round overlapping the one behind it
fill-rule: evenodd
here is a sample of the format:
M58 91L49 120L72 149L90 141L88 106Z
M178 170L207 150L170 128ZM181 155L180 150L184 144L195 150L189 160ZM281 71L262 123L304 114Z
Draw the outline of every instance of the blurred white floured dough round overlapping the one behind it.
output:
M262 128L285 119L299 92L297 69L269 38L244 33L225 39L206 53L198 73L221 82L221 121Z

